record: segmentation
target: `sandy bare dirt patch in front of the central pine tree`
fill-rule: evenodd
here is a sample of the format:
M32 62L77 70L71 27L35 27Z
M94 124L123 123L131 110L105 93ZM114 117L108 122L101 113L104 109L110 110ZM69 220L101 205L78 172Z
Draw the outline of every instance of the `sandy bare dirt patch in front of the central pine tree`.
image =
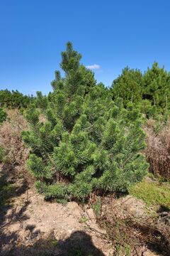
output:
M50 245L50 255L64 255L61 253L67 253L71 241L76 248L81 245L79 250L83 243L88 244L86 250L94 253L91 255L111 255L111 244L102 236L105 230L99 228L96 219L88 218L86 210L75 202L66 206L47 202L33 188L13 197L11 206L1 211L0 228L1 255L29 255L34 247L36 253L42 253L45 244L45 248ZM57 246L52 248L55 243Z

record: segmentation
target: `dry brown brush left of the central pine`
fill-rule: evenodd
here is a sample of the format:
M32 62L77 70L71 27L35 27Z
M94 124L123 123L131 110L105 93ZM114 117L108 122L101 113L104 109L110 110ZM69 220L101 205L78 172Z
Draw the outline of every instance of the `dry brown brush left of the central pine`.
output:
M8 178L19 176L30 181L32 177L26 170L29 150L21 139L21 131L28 129L28 124L18 110L7 110L7 114L7 120L0 126L0 147L4 150L2 171Z

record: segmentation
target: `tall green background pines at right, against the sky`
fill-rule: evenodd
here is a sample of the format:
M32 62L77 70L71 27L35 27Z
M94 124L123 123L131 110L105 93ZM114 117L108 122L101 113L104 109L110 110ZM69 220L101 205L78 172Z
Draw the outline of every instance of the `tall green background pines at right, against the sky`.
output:
M160 113L169 114L170 105L170 73L154 63L142 75L140 70L123 69L122 74L113 80L113 99L123 99L127 107L134 103L147 118L157 118Z

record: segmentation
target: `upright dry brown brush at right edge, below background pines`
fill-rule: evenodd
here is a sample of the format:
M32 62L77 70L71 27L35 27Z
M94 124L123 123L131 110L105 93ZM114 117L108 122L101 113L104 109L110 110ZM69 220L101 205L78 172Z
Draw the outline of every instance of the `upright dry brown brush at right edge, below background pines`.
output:
M150 164L149 171L157 176L170 178L170 122L159 127L159 132L155 132L155 128L155 121L149 119L145 127L145 155Z

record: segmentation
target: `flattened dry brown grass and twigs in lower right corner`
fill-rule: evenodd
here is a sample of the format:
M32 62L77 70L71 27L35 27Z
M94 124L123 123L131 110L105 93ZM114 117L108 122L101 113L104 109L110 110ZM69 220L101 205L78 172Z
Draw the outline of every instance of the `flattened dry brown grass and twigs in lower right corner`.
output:
M169 256L170 214L132 215L109 199L98 223L106 229L107 239L112 242L115 256L141 256L146 252ZM134 206L134 207L137 207Z

